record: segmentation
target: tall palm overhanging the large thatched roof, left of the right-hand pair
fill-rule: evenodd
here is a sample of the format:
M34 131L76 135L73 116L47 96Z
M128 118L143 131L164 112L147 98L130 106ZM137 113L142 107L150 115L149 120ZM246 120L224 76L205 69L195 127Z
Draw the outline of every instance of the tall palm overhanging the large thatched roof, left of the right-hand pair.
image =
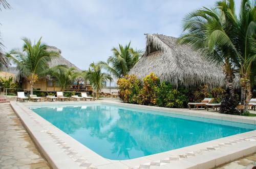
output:
M232 2L232 0L230 1ZM230 15L234 16L232 3L227 4ZM230 39L232 20L225 18L217 8L200 10L187 14L183 19L183 34L179 43L189 44L210 62L223 67L230 94L234 95L233 78L238 62L235 47Z

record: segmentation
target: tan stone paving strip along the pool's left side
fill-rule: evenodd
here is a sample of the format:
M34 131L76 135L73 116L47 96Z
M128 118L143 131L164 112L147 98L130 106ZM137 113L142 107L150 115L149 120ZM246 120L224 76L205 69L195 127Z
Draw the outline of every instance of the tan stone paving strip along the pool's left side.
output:
M0 104L0 168L50 168L9 103Z

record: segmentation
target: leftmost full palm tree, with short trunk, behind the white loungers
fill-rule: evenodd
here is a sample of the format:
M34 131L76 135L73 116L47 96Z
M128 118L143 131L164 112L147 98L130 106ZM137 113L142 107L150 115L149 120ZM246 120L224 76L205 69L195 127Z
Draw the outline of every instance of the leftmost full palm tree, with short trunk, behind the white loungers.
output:
M22 50L11 50L7 57L17 65L18 76L30 82L30 93L33 94L34 83L49 73L49 62L53 57L58 57L59 53L49 51L41 38L33 45L28 38L22 40Z

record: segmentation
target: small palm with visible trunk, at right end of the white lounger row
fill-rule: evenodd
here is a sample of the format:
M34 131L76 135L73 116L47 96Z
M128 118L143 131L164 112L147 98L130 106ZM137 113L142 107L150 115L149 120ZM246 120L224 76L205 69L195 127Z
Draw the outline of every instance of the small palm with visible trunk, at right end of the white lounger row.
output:
M84 79L89 80L90 84L96 88L96 94L97 98L99 98L99 90L102 87L102 85L108 81L111 80L111 76L105 73L102 73L101 71L101 64L94 64L91 63L89 70L84 71L83 77Z

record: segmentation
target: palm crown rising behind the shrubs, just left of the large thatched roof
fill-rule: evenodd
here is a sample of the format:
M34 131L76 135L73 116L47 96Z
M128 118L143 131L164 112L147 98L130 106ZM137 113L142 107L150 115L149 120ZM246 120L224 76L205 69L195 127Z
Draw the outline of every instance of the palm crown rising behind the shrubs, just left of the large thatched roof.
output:
M113 47L111 50L113 55L108 58L107 62L101 61L99 64L117 78L127 75L142 54L141 50L134 50L130 45L131 42L124 47L119 44L119 49Z

